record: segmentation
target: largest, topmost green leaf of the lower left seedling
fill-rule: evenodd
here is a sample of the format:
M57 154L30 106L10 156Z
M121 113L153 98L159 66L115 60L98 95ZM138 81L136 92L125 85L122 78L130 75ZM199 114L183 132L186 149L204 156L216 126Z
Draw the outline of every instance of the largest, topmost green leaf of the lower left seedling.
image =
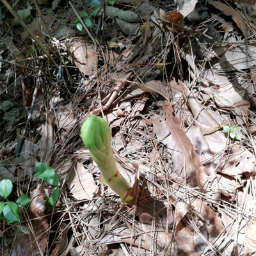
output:
M50 166L44 163L36 162L35 170L38 178L44 180L52 186L58 186L58 175Z

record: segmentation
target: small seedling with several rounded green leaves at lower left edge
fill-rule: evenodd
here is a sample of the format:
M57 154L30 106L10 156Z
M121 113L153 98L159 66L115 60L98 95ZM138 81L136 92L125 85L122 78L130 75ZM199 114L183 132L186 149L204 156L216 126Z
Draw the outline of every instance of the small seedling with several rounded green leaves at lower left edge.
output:
M58 187L58 175L47 164L36 162L35 172L38 178L44 180L52 186ZM12 193L13 184L8 178L1 180L0 182L0 195L3 197L3 201L0 201L0 220L6 220L7 223L13 221L20 221L19 205L25 207L31 201L27 195L21 195L17 198L16 202L7 200L8 196ZM46 199L45 205L50 209L53 209L60 195L60 189L56 188L49 199ZM18 205L19 204L19 205Z

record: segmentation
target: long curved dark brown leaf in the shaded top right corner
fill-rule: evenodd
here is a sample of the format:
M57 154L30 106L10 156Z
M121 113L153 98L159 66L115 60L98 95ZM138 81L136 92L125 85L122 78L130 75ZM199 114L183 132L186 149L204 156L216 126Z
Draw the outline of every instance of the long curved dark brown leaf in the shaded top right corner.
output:
M245 38L247 38L248 32L246 29L246 24L243 21L241 15L234 10L234 8L228 6L227 4L220 3L218 1L209 1L209 4L223 12L227 16L232 16L234 22L236 22L239 29L241 29Z

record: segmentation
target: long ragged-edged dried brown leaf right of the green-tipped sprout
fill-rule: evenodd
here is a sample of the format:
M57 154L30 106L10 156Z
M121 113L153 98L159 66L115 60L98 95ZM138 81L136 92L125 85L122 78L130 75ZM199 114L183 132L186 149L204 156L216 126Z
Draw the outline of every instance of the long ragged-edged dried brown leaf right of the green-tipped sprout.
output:
M164 102L163 115L152 118L154 133L157 138L165 143L168 151L172 154L172 161L179 177L186 177L188 185L196 188L205 186L207 175L204 166L198 161L195 155L195 148L189 141L186 132L180 127L180 121L173 116L173 104Z

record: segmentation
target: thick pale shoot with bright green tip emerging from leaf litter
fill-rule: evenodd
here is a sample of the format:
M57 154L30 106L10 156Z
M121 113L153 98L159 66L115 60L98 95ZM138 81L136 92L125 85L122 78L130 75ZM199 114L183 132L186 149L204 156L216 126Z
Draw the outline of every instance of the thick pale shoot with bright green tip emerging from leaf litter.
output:
M101 172L100 180L124 202L132 201L134 198L128 193L131 186L116 167L108 122L100 116L91 115L81 127L81 138Z

